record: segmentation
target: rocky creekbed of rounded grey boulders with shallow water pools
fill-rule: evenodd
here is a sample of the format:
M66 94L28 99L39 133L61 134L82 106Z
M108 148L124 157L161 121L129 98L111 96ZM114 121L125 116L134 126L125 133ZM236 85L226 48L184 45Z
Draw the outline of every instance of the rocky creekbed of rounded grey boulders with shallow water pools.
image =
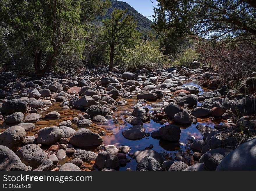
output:
M255 170L256 78L206 89L218 74L193 67L2 71L0 169Z

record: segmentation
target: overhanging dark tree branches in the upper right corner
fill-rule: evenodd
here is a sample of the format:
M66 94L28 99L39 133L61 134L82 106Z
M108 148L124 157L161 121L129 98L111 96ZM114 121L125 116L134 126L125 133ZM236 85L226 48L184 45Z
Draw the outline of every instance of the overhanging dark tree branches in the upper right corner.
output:
M154 27L176 37L200 35L214 40L255 41L256 5L250 0L157 0Z

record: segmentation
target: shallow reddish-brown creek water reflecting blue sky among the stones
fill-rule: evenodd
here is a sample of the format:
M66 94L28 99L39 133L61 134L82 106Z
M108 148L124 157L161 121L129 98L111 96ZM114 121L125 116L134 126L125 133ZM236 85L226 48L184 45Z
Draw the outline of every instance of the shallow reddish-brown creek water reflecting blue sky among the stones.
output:
M198 85L199 81L187 81L184 82L182 86L186 85L195 85L199 88L200 93L202 94L204 91L208 91L207 89L204 89ZM171 93L171 92L169 92ZM202 139L201 133L195 128L197 124L192 124L190 126L180 126L181 127L181 135L179 142L168 142L163 140L157 140L153 139L151 136L144 137L141 140L128 140L124 138L122 135L122 131L130 128L132 125L125 122L125 119L129 116L131 116L131 113L134 109L134 105L138 103L136 99L136 95L134 95L131 99L126 99L127 103L125 105L118 105L117 111L114 111L114 114L112 115L112 119L108 119L107 122L104 122L103 124L91 124L90 126L86 127L90 129L91 131L95 133L99 133L99 131L104 131L105 134L101 135L103 138L103 144L104 145L115 145L117 148L119 148L122 145L126 145L131 147L130 152L135 152L141 149L145 149L150 144L153 144L153 149L157 152L159 152L164 159L166 160L174 160L176 155L180 155L183 157L183 162L187 163L189 166L196 163L196 161L193 160L193 151L190 150L189 145L191 142L191 136L194 136L195 139ZM149 104L151 103L163 103L162 99L158 99L154 102L145 102L142 103L144 107L148 107L151 109ZM198 102L198 105L201 105L201 103ZM60 113L61 117L59 119L44 119L45 115L49 113L50 111L56 110L58 113ZM150 112L153 112L150 110ZM85 113L84 110L75 110L75 109L68 109L63 110L59 106L59 103L53 103L48 110L39 112L39 114L42 115L42 119L38 122L34 122L35 128L31 131L26 132L26 136L32 136L34 134L37 134L38 130L40 128L48 127L48 126L58 126L58 124L64 120L71 120L73 117L77 117L77 114L83 114ZM26 114L28 115L28 114ZM172 124L173 121L167 121L165 124L160 125L159 123L154 122L153 120L150 120L150 122L144 123L145 132L151 133L153 131L158 130L160 127ZM211 120L210 118L205 119L198 119L198 123L204 124L210 127L214 127L216 124L220 124L221 122L216 122ZM3 121L0 121L0 132L4 131L7 126ZM72 124L72 128L75 130L78 130L77 126L75 124ZM96 152L96 151L95 151ZM129 157L127 155L127 157ZM61 164L64 164L67 160L71 160L72 157L67 157L64 160L60 161ZM127 163L125 167L120 167L120 170L125 170L126 168L131 168L132 170L136 169L136 160L131 159L130 163Z

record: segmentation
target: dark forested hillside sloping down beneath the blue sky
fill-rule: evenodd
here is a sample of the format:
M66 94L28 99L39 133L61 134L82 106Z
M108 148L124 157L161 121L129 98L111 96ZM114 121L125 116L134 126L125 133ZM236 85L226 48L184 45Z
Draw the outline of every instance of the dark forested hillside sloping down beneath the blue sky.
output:
M132 15L134 20L137 21L137 28L139 31L145 31L151 29L151 25L153 24L148 18L141 15L138 11L132 8L129 4L123 1L115 1L111 0L111 7L106 12L106 17L110 17L114 8L125 10L127 9L126 14Z

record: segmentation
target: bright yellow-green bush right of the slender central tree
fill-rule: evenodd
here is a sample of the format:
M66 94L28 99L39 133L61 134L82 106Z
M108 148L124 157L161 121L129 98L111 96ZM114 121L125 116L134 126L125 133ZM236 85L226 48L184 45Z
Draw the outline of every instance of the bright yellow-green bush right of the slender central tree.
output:
M156 69L168 65L168 56L164 56L154 41L141 40L133 49L125 49L121 55L123 65L130 71L146 67Z

